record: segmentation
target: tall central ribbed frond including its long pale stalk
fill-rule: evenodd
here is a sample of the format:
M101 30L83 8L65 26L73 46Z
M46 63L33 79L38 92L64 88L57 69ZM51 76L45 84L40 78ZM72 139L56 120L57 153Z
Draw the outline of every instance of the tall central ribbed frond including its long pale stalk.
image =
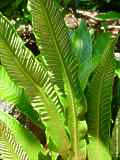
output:
M67 122L74 158L79 156L76 109L81 98L78 60L71 51L68 30L53 0L30 0L33 28L53 80L67 95ZM76 98L77 97L77 98Z

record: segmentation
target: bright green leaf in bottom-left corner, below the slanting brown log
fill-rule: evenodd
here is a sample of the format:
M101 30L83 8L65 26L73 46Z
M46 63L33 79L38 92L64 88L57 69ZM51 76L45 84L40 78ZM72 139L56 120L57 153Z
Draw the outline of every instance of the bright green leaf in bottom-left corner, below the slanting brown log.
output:
M0 121L2 122L0 123L1 124L0 137L3 135L4 136L3 138L5 138L6 141L8 141L7 143L11 145L11 148L13 147L12 143L15 139L14 141L16 147L15 152L16 154L18 153L17 155L18 159L22 160L23 157L26 160L28 160L29 158L33 160L37 159L40 149L42 151L42 146L40 145L38 140L27 129L23 128L20 125L20 123L18 123L14 118L12 118L10 115L2 111L0 111ZM5 132L8 132L8 134L7 133L5 134ZM9 137L10 135L11 135L11 141ZM20 146L17 146L17 144L20 144L22 146L23 151ZM31 150L33 152L31 152ZM21 154L20 151L23 152L23 154ZM27 153L28 156L26 156L24 151L25 153ZM2 148L0 152L2 152ZM7 156L7 154L5 156Z

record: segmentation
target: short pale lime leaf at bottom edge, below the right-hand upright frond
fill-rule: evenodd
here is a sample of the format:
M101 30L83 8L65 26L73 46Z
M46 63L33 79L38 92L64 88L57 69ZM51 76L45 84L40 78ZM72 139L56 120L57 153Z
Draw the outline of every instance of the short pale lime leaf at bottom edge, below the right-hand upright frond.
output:
M112 160L109 150L107 150L99 138L90 136L87 150L89 160Z

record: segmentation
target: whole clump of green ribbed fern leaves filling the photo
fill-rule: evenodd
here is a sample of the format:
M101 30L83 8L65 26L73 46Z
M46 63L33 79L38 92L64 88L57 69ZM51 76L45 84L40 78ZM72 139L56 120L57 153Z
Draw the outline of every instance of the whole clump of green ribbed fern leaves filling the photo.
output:
M42 128L46 144L0 110L0 158L111 160L110 146L118 145L111 136L117 37L92 37L84 21L69 34L53 0L30 0L29 7L37 56L0 13L0 100Z

